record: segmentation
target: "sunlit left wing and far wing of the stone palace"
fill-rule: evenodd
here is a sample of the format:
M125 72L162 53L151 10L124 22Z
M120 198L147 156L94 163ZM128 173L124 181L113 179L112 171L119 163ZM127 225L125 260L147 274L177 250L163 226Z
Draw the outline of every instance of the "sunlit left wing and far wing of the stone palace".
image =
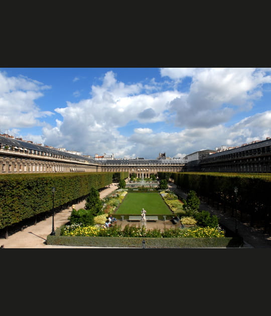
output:
M146 178L157 172L181 172L184 160L102 159L73 154L0 135L0 174L55 172L129 172Z

